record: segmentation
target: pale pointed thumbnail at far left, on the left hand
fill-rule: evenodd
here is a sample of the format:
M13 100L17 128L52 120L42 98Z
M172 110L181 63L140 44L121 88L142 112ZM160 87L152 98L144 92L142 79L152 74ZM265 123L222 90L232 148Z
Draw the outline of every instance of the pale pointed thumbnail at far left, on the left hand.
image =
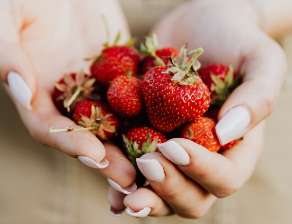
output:
M32 92L23 78L16 72L10 72L7 76L9 89L15 99L28 110L32 110Z

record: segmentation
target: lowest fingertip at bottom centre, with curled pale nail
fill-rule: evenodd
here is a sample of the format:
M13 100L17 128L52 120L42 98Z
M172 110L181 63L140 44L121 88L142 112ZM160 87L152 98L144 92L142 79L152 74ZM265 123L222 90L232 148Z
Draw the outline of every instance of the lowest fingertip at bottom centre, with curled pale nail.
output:
M126 212L133 217L166 216L173 213L172 209L155 192L140 187L124 199Z

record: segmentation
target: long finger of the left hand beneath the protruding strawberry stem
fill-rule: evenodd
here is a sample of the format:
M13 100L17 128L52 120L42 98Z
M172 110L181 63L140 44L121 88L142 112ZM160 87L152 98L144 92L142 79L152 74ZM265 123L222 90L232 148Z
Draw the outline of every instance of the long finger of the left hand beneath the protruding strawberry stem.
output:
M38 91L33 110L22 110L21 105L16 106L28 131L40 144L79 158L89 167L105 168L109 165L103 144L90 131L49 132L52 127L65 129L72 123L71 119L57 111L49 92ZM74 124L73 129L77 128L81 126Z

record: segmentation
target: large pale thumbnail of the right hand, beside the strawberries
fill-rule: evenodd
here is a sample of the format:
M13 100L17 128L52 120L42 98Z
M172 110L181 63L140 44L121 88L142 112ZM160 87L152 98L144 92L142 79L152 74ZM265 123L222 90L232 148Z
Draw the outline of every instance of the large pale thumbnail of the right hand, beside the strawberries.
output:
M245 107L238 106L226 112L216 125L220 144L225 145L243 134L251 122L251 115Z

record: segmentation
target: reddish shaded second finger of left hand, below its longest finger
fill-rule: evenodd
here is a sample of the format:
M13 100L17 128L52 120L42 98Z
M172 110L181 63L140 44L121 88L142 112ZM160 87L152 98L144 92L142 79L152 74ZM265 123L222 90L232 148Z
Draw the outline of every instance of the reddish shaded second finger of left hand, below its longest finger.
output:
M105 143L104 146L110 164L107 168L98 169L97 172L107 177L110 185L123 194L134 192L137 189L134 166L121 149L110 143Z

